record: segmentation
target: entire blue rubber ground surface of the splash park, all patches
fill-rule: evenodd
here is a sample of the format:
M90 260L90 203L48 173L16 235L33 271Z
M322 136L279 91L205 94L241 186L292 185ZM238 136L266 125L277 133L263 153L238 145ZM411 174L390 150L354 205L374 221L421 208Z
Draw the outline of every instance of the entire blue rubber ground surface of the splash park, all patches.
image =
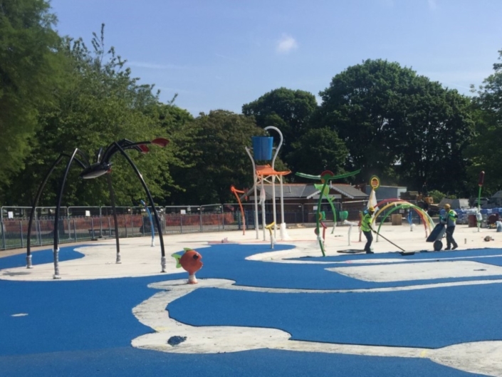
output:
M286 248L277 245L276 250ZM71 247L63 249L61 261L82 257ZM250 286L307 289L417 283L359 282L325 271L332 267L329 264L244 259L267 251L267 245L238 244L200 249L204 268L197 277L234 279L237 284ZM495 251L477 251L491 252ZM423 254L434 254L437 259L438 253ZM385 256L389 254L341 258ZM491 259L498 261L498 257ZM42 261L52 262L50 250L33 253L35 264ZM26 255L0 258L0 269L25 264ZM427 358L269 349L178 355L132 348L132 339L152 331L137 321L132 308L157 292L147 284L169 279L180 279L180 275L78 282L0 280L0 376L474 376ZM371 294L266 294L207 288L169 304L169 311L187 324L275 327L290 332L293 339L437 347L502 339L501 304L499 284ZM23 313L28 315L13 316Z

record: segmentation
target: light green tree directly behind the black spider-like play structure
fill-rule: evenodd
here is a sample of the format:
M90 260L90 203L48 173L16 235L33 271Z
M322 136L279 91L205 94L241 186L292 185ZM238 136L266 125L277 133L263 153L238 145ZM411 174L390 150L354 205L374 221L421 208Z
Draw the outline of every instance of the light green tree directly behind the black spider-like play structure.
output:
M114 49L105 49L103 28L100 36L94 34L92 44L90 50L81 39L66 41L68 64L63 74L67 84L56 91L56 101L41 113L42 129L33 139L33 153L26 158L26 169L11 187L21 193L17 197L21 196L22 204L31 204L48 167L60 153L71 154L80 148L90 162L95 162L95 152L117 140L169 138L162 128L162 108L152 86L139 85ZM152 195L164 200L166 185L171 182L169 165L177 162L169 146L152 146L146 156L133 150L127 153L142 172ZM113 157L113 164L111 176L117 205L146 199L135 172L120 153ZM53 205L65 165L62 163L54 172L41 204ZM79 180L80 171L76 164L70 170L64 205L110 205L107 180Z

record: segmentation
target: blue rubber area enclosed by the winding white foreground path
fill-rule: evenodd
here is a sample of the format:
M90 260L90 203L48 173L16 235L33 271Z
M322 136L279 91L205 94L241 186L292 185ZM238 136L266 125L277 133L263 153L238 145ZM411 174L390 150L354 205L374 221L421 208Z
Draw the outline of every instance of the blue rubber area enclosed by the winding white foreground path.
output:
M500 293L499 284L357 294L208 288L169 304L169 315L194 326L273 327L302 341L440 348L502 339Z

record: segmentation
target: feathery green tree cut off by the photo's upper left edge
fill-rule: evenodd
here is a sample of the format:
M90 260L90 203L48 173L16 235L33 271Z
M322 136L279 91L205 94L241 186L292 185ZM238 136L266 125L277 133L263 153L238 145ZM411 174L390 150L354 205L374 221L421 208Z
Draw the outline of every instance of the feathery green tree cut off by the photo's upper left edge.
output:
M61 39L43 0L0 0L0 181L22 169L38 110L58 85ZM5 188L5 186L4 186ZM0 194L4 192L1 192Z

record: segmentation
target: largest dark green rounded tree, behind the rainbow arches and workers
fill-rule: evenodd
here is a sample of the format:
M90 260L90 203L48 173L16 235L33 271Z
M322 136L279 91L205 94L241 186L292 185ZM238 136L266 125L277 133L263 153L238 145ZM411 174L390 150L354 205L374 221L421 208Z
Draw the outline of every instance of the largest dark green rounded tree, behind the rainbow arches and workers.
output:
M458 92L379 59L347 68L320 95L314 121L338 131L350 151L347 170L412 187L427 180L446 192L463 187L472 121Z

